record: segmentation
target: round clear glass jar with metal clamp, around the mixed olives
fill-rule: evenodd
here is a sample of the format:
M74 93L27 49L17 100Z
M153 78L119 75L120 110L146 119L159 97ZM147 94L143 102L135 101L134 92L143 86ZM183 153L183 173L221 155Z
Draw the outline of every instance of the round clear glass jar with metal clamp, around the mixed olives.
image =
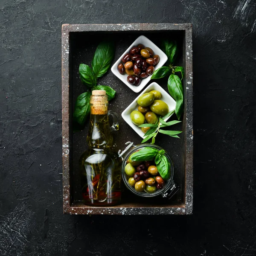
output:
M125 173L125 166L127 163L127 160L129 158L129 156L131 156L131 154L133 154L135 151L138 151L139 149L145 148L145 147L151 147L151 148L156 148L157 150L162 150L163 148L161 148L158 145L154 145L154 144L140 144L140 145L134 145L133 142L128 141L127 143L125 143L125 145L128 145L123 151L119 150L118 151L118 155L119 157L122 157L123 161L122 161L122 167L121 167L121 172L122 172L122 179L125 183L125 186L131 191L133 192L135 195L138 195L140 197L144 197L144 198L151 198L151 197L155 197L158 195L161 195L163 198L167 198L170 199L172 198L180 189L180 186L178 186L174 181L173 181L173 164L172 164L172 160L169 157L168 154L164 153L164 155L167 157L167 159L169 160L170 163L170 177L168 180L166 180L163 189L159 189L156 190L155 192L151 192L148 193L145 190L143 192L139 192L136 189L134 189L133 186L131 186L128 183L128 176Z

